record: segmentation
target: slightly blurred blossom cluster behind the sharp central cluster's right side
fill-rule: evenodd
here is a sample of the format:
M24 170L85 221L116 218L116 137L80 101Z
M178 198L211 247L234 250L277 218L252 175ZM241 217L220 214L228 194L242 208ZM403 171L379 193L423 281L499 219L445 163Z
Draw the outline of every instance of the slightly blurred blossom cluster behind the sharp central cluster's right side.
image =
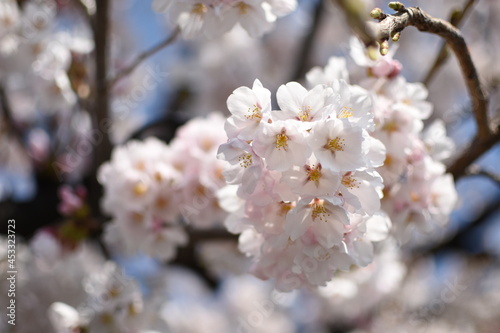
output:
M351 56L368 69L368 78L359 84L374 101L372 136L387 149L383 166L377 169L384 180L382 207L392 220L394 235L405 242L415 229L429 233L443 226L456 205L453 178L442 163L452 155L453 141L439 120L424 130L423 120L432 113L428 92L423 84L407 82L400 75L401 64L392 54L370 59L353 40ZM348 80L346 61L331 58L325 69L314 68L307 79L311 85Z

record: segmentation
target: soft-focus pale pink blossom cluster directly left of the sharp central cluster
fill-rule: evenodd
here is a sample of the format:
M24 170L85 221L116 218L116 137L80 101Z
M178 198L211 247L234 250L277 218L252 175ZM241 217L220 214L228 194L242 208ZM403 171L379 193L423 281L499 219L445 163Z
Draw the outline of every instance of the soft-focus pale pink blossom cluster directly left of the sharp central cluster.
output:
M213 113L179 128L170 145L148 138L115 148L98 173L102 206L113 217L108 243L170 260L187 242L184 223L209 228L224 220L216 197L223 163L215 158L226 141L223 123Z

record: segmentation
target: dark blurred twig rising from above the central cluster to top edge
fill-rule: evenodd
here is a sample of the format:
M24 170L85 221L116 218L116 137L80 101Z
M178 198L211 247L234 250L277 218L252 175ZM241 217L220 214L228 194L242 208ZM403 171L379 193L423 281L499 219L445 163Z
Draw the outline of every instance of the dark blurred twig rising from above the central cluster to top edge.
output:
M311 53L314 49L314 40L319 28L321 26L321 19L325 11L323 1L318 1L316 7L314 8L313 20L309 31L306 33L302 40L302 45L299 50L299 56L297 57L297 63L295 70L290 81L298 81L304 77L307 70L309 69L309 60Z

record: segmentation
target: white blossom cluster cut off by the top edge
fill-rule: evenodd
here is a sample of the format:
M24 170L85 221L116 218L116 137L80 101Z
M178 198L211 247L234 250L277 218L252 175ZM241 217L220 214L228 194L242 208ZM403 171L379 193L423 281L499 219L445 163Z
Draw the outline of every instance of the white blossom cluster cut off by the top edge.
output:
M295 10L296 0L155 0L186 38L220 36L239 24L252 37L269 32L277 17Z

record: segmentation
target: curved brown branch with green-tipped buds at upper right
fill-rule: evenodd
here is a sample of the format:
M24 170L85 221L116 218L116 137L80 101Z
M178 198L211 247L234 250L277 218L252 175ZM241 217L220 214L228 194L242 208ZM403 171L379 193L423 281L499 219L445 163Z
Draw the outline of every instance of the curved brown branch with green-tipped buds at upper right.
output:
M366 46L380 43L382 51L382 48L387 47L389 38L398 40L401 31L408 26L414 26L420 31L440 36L455 53L471 98L478 127L471 145L448 167L448 172L452 173L455 179L463 176L470 164L500 141L499 128L490 129L487 118L488 97L479 81L467 44L457 28L449 22L431 17L418 7L406 8L400 2L389 3L389 7L396 10L395 14L388 15L376 8L371 12L371 16L377 18L379 22L365 22L362 13L355 9L351 1L332 1L344 10L349 24Z

